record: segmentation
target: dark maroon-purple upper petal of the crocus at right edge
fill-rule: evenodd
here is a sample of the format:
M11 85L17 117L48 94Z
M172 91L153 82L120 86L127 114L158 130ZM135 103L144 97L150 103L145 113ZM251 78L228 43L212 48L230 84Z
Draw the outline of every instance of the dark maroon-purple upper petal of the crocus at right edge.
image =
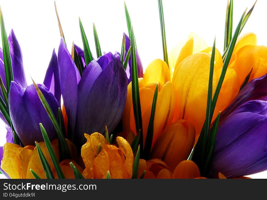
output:
M242 103L249 100L267 100L267 75L251 80L238 93L233 102L221 113L220 120L227 117Z

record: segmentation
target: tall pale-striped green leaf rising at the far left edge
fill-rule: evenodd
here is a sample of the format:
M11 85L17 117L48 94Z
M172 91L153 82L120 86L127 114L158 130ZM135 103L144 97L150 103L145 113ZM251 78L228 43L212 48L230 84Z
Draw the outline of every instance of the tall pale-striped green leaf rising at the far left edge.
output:
M4 58L4 66L5 66L5 81L6 81L6 90L7 94L10 89L10 82L13 80L13 71L12 71L12 63L8 45L8 37L5 31L5 23L3 18L3 13L0 7L0 24L1 24L1 37L2 37L2 48L3 48L3 58Z

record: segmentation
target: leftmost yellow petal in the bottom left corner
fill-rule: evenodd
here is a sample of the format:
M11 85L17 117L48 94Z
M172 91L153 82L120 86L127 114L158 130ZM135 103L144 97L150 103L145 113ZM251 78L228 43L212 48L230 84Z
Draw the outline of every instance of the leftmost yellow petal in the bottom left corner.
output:
M29 160L34 146L21 147L17 144L5 143L1 168L10 178L26 178Z

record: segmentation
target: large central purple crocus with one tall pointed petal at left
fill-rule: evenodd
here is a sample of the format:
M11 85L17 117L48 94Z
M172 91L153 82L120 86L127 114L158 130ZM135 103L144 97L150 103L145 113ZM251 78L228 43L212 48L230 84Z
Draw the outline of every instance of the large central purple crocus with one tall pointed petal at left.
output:
M63 39L58 51L59 79L70 129L68 137L81 146L84 133L112 133L121 120L127 96L127 75L119 55L106 53L83 70L82 77Z

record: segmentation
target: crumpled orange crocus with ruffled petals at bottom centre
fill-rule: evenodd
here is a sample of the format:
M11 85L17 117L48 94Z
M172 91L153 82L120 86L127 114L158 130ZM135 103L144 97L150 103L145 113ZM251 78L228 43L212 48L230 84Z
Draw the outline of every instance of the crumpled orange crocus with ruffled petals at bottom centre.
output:
M134 155L130 144L117 137L118 147L109 144L100 133L84 134L87 142L82 146L81 156L85 164L84 178L131 178ZM100 150L100 151L99 151Z

